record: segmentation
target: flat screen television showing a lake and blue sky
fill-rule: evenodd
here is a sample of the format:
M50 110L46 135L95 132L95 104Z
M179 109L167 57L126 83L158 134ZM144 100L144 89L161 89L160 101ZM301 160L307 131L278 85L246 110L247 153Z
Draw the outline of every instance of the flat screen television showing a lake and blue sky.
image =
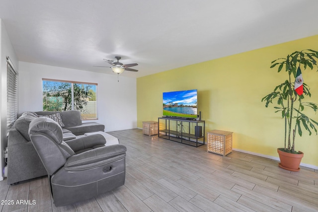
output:
M198 91L163 92L163 116L197 118Z

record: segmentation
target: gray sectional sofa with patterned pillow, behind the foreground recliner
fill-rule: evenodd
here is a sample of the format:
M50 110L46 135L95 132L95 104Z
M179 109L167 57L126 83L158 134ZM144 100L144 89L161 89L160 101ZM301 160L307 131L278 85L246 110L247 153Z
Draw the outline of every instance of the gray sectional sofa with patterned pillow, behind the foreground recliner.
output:
M8 174L7 183L13 184L23 180L47 175L37 152L29 137L29 124L39 116L50 116L63 130L63 140L69 141L85 133L102 131L105 126L96 122L82 123L79 111L39 111L25 112L15 122L8 134ZM55 120L57 118L58 120ZM92 135L90 139L94 139Z

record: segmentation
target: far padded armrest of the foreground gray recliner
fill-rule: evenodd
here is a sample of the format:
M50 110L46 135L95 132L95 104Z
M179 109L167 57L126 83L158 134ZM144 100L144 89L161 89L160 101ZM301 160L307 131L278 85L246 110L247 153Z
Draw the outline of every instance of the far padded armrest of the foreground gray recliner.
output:
M102 135L96 134L83 136L65 142L73 149L73 151L77 152L82 149L92 148L96 145L104 145L106 143L106 140Z

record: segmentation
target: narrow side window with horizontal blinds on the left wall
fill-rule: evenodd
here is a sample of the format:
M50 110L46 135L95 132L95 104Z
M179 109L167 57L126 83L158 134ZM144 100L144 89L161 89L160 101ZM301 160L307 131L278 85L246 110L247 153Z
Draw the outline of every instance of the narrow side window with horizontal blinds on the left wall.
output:
M9 130L18 114L18 74L9 57L6 58L6 127Z

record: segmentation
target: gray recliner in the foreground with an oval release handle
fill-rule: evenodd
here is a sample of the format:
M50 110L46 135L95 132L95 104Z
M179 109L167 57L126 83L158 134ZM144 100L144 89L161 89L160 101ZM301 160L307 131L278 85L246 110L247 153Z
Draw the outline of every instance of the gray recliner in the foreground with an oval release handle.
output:
M29 135L47 170L56 207L87 200L124 185L124 145L105 146L105 141L91 142L87 137L63 141L61 126L47 117L33 120Z

